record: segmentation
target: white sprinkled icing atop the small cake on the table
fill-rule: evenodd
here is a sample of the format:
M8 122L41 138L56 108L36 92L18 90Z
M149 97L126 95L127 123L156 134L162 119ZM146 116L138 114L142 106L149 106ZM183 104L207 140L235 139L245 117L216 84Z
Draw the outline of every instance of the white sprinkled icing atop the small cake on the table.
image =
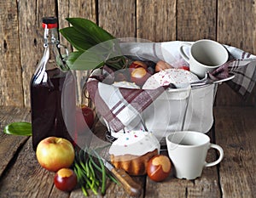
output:
M115 140L109 149L113 156L143 156L157 149L160 151L160 143L153 133L141 131L130 131Z

